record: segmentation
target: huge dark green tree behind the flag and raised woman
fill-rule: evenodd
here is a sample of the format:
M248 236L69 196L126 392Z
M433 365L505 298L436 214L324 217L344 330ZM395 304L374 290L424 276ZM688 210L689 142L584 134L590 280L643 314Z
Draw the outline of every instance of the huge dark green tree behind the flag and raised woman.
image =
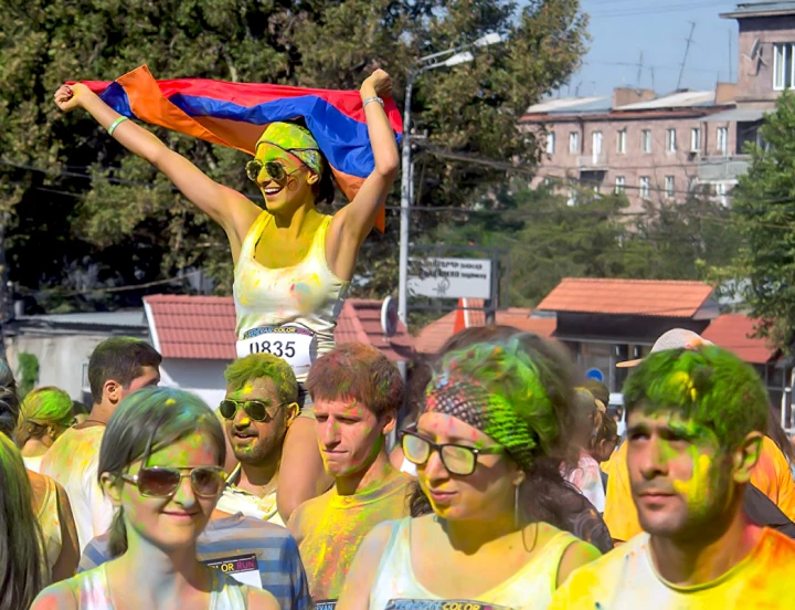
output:
M400 97L414 57L497 31L509 42L479 51L471 64L420 80L414 117L428 132L430 148L532 162L536 141L517 128L518 118L565 82L585 41L576 0L531 0L522 8L502 0L0 6L0 212L11 213L11 278L47 307L134 304L140 292L92 291L197 267L212 274L220 293L230 292L232 280L219 228L91 119L57 113L52 94L64 81L110 80L147 63L160 78L350 88L382 66L393 74ZM246 183L242 154L155 132L214 179L259 199ZM420 175L418 202L444 207L465 207L504 179L499 171L434 155ZM396 227L392 221L385 235L368 240L361 293L383 296L395 286ZM413 219L415 234L428 227L427 217Z

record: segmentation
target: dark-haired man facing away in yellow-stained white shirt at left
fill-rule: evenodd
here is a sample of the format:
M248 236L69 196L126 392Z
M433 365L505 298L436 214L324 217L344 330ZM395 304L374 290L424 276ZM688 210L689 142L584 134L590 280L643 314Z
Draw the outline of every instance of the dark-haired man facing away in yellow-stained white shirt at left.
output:
M81 553L110 526L114 507L97 481L99 446L105 425L121 400L136 390L160 382L157 350L140 339L113 337L100 343L88 360L94 402L88 418L67 430L44 455L41 472L66 490Z

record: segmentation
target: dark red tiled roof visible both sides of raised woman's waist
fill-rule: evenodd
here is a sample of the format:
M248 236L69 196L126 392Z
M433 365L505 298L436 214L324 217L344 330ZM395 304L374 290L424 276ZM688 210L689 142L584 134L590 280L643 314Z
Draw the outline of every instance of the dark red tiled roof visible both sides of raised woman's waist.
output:
M234 301L229 296L153 295L144 297L156 347L163 358L233 360ZM402 323L392 338L381 330L381 301L349 298L337 320L338 344L364 343L391 360L413 356L413 338Z

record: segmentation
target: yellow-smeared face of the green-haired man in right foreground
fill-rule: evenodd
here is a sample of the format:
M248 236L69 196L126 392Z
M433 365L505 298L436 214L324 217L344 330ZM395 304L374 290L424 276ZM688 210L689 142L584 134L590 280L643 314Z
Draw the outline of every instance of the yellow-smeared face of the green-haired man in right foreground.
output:
M634 410L627 419L627 467L645 532L701 537L736 493L732 454L714 432L670 410Z

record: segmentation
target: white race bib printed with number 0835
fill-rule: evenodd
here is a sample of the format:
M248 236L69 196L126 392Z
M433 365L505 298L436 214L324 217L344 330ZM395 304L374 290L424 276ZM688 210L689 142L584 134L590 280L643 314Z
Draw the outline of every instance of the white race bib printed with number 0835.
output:
M303 326L264 326L246 330L237 341L237 357L251 354L273 354L285 360L296 377L309 372L317 358L317 337Z

